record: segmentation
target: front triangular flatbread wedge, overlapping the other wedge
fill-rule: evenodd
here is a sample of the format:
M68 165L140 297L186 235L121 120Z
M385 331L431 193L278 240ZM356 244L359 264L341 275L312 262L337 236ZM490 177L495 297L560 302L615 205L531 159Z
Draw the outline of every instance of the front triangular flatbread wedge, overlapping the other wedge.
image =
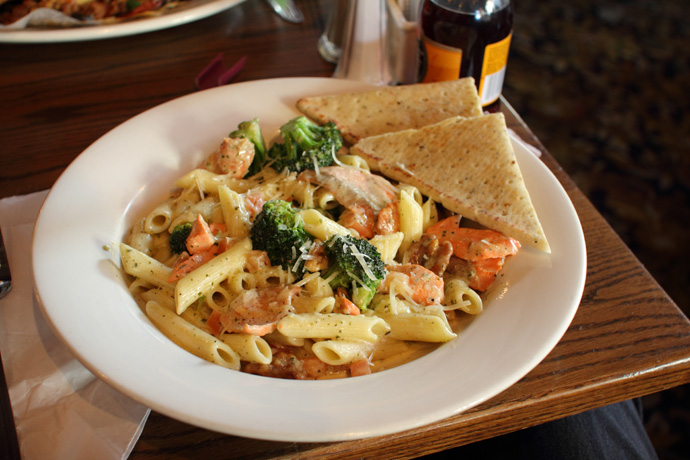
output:
M503 114L454 117L362 139L350 150L447 209L550 252Z

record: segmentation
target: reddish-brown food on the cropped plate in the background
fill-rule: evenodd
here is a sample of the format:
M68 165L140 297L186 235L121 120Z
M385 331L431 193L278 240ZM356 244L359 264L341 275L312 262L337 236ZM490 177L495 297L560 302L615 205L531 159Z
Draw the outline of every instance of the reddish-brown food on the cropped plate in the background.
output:
M155 14L181 2L184 0L0 0L0 24L12 24L39 8L52 9L88 23L112 23Z

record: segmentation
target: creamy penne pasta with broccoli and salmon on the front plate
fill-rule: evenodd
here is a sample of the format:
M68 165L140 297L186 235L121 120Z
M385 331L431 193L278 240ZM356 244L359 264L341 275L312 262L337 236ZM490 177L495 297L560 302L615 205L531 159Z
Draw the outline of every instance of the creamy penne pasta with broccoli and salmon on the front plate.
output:
M258 120L241 126L120 247L147 316L208 361L297 379L400 365L481 313L519 250L372 173L332 122L297 117L268 149Z

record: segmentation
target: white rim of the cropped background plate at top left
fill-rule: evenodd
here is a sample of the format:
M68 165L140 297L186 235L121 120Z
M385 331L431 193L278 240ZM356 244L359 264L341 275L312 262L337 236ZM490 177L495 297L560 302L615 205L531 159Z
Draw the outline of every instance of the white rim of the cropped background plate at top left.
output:
M0 43L57 43L103 38L123 37L168 27L180 26L188 22L212 16L227 10L244 0L190 0L178 8L164 11L160 16L140 17L132 20L83 27L60 29L0 28Z

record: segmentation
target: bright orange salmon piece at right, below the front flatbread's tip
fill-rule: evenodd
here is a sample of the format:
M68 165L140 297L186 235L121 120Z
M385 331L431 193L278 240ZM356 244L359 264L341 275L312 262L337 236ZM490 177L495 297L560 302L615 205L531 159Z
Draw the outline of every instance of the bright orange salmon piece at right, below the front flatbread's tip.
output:
M439 241L450 241L453 255L465 260L495 259L517 254L520 242L495 230L458 227L459 216L451 216L429 227L426 233Z

